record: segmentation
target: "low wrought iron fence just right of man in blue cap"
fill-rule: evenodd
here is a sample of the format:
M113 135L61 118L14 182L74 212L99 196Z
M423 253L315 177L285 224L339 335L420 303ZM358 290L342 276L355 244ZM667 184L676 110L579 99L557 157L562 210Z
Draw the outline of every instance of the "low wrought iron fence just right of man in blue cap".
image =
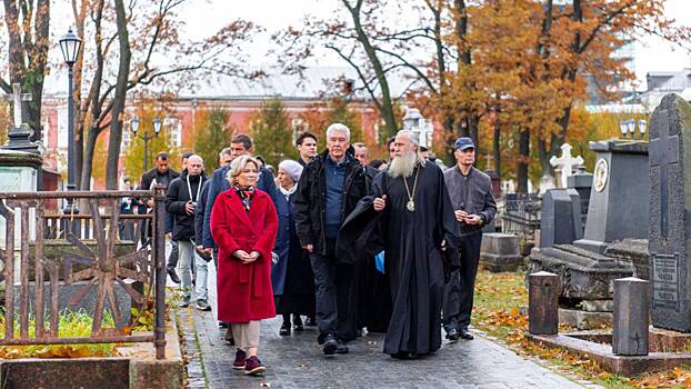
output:
M540 229L541 206L542 201L537 194L507 194L500 209L502 232L532 239L535 230Z

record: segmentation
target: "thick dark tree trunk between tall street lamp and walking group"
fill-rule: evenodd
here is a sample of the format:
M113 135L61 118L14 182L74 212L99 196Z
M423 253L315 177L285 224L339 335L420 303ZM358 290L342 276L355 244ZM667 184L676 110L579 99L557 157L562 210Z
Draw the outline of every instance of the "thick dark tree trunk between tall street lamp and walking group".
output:
M116 23L118 26L118 41L120 43L120 64L113 108L110 117L110 138L108 141L108 161L106 162L106 188L118 189L118 166L120 162L120 143L122 142L122 121L120 114L124 110L127 84L130 76L130 37L127 30L127 14L123 0L116 0Z

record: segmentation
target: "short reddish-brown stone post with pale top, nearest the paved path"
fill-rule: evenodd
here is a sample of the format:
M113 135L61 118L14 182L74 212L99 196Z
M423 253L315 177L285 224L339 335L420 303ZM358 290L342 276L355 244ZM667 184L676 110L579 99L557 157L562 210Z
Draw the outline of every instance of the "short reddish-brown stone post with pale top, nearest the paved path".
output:
M559 332L559 277L547 271L528 276L528 330L533 335Z

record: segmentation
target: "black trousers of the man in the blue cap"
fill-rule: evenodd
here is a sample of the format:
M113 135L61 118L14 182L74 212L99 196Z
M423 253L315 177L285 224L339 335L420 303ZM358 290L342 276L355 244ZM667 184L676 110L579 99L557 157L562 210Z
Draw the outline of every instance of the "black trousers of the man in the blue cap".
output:
M470 325L482 231L461 237L459 243L461 268L451 273L444 286L443 325L447 331L467 329Z

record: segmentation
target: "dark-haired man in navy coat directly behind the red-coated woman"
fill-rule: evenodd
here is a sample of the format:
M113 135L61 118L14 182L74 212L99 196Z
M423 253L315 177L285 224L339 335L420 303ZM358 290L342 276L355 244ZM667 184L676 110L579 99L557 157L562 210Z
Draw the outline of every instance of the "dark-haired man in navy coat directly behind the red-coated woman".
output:
M231 161L240 156L248 156L252 153L252 139L247 134L234 136L230 140ZM223 191L230 189L230 182L226 179L228 171L230 170L230 163L224 167L220 167L213 171L211 177L211 183L209 183L209 194L207 196L207 203L204 205L204 223L201 245L204 251L209 255L213 252L216 247L213 238L211 237L211 209L216 202L216 198ZM271 197L276 193L276 182L273 182L273 174L267 168L259 169L259 179L257 181L257 189L266 192ZM199 242L198 242L199 243Z

